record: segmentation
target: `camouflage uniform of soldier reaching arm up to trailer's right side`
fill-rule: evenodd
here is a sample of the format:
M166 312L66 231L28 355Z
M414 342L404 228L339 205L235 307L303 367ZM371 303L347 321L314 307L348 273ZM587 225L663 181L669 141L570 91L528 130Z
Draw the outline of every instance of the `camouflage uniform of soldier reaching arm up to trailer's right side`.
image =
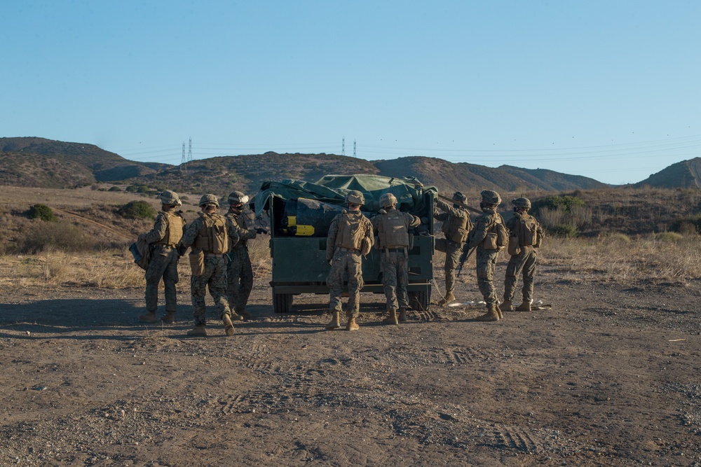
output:
M457 236L453 236L453 234L456 233L454 230L457 230L458 226L464 225L464 229L469 232L471 224L470 214L468 214L468 211L465 211L465 209L451 206L440 199L436 200L436 205L438 209L443 212L435 214L433 218L443 223L442 231L445 234L444 239L436 239L436 249L437 251L445 253L445 263L443 265L445 272L445 295L449 296L455 290L455 268L460 264L460 255L465 245L464 237L462 242L454 241L454 239L457 239Z

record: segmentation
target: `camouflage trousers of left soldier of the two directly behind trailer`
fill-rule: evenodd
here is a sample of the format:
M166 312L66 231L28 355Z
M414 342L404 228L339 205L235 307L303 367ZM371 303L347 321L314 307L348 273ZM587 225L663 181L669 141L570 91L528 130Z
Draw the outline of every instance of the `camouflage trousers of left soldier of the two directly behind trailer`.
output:
M348 276L348 305L346 317L357 318L360 314L360 289L362 288L362 256L360 253L336 249L326 284L329 286L329 309L340 312L343 294L343 274Z

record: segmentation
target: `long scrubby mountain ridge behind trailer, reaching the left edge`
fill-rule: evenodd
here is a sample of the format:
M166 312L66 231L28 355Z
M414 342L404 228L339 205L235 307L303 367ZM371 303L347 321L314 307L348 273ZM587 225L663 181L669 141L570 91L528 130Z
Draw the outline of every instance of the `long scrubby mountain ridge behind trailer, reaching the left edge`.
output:
M189 193L255 193L269 180L317 181L326 174L416 176L442 193L484 188L505 192L606 188L585 176L510 165L486 167L468 162L411 156L368 161L335 154L236 155L193 160L174 166L134 162L93 144L67 143L37 137L0 138L0 184L72 188L105 182L146 185Z

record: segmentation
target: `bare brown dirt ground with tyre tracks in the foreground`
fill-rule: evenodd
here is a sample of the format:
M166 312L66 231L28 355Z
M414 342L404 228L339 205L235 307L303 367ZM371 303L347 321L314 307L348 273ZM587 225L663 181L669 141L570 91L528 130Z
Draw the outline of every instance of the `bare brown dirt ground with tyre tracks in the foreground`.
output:
M701 465L701 281L541 267L550 310L386 326L363 294L349 333L324 330L323 295L273 314L268 280L233 337L211 308L210 335L186 337L186 284L172 326L139 323L137 288L6 288L0 465Z

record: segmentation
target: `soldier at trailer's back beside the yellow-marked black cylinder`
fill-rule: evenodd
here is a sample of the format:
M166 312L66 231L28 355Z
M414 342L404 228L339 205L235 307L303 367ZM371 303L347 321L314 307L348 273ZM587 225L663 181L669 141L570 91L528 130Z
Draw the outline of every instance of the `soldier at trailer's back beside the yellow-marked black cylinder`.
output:
M331 263L331 270L326 278L329 286L329 309L332 314L327 329L341 327L341 296L343 295L343 275L348 277L348 304L346 317L347 330L358 330L355 319L360 314L360 289L362 281L362 255L369 253L373 244L372 223L360 212L365 197L358 190L346 195L348 211L334 217L329 226L326 241L326 259Z

